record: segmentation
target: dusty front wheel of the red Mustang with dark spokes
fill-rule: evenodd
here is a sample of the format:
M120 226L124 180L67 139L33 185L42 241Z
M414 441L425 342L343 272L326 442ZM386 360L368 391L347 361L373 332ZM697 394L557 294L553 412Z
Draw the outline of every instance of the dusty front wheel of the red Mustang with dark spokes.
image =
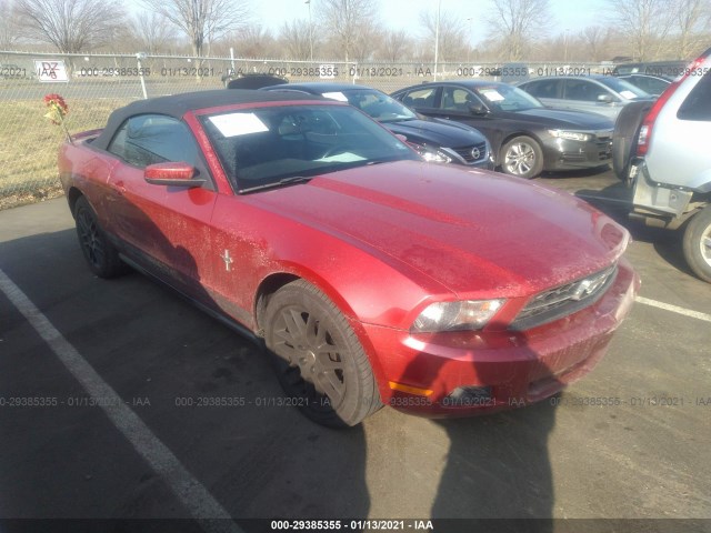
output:
M310 283L291 282L271 296L264 340L284 392L314 422L352 426L382 406L356 333Z

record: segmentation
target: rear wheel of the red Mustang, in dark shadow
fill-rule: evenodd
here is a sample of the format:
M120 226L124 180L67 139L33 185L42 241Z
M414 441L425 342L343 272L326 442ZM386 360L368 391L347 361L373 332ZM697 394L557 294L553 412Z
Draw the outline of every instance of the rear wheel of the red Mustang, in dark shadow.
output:
M74 221L79 245L91 272L106 279L122 274L126 271L126 264L107 239L103 229L99 225L97 213L84 197L79 198L74 204Z

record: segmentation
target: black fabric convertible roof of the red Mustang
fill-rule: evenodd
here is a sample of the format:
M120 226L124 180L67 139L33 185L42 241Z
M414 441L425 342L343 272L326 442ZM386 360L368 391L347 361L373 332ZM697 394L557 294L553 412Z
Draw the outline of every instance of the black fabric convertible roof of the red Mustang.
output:
M182 119L188 111L197 109L216 108L238 103L258 102L284 102L293 100L323 101L322 98L300 93L278 93L251 90L212 90L199 92L186 92L170 97L150 98L138 100L111 113L109 121L101 134L92 142L93 147L106 150L113 139L116 130L129 118L137 114L166 114L176 119Z

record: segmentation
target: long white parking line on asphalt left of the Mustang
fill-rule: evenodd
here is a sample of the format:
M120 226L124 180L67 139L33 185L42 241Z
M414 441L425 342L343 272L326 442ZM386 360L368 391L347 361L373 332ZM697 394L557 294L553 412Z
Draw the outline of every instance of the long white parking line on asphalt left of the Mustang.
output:
M220 503L180 463L178 457L124 403L118 393L93 370L27 295L0 270L0 291L28 320L37 333L49 344L59 360L67 366L97 405L133 445L133 449L166 481L180 502L208 532L233 532L242 530L231 520ZM216 520L217 519L217 520Z

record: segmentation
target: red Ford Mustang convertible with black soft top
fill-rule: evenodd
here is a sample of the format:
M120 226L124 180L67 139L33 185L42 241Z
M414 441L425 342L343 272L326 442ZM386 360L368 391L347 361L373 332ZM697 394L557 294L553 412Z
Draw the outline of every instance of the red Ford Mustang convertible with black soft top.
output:
M327 425L550 396L601 359L639 286L604 214L424 163L317 97L134 102L66 143L59 169L97 275L128 263L251 335Z

